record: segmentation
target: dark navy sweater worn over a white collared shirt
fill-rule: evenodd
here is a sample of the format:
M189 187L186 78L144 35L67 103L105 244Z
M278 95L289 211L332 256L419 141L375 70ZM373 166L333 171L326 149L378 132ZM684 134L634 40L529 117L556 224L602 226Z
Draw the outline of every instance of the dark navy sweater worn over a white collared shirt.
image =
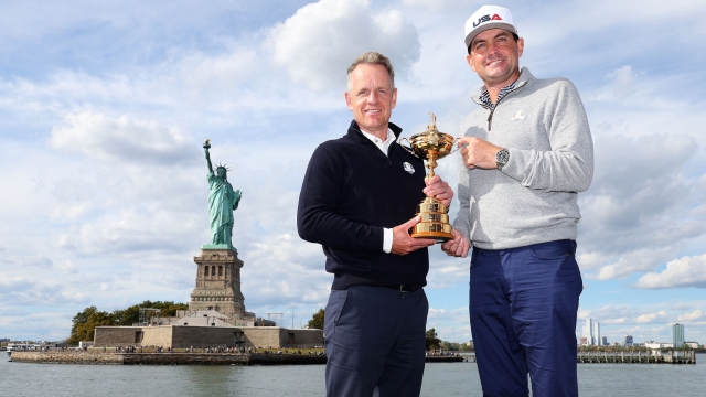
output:
M389 128L399 138L402 129L392 122ZM299 195L297 228L301 238L323 246L325 269L334 275L331 289L427 283L427 248L404 256L383 251L383 228L415 215L424 178L421 159L396 143L386 157L355 120L347 135L317 148Z

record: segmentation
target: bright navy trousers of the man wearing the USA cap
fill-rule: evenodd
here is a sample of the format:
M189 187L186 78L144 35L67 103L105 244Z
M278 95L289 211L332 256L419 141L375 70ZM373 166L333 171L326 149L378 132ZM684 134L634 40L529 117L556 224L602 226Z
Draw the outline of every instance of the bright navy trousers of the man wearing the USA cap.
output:
M576 242L473 248L469 311L483 396L578 396Z

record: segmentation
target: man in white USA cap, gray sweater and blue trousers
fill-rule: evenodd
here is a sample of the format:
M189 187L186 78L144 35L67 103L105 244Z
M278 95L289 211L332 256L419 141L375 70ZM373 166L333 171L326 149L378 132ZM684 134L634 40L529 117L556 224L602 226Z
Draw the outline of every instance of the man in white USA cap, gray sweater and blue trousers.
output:
M484 85L461 122L452 240L472 248L470 318L484 396L577 396L578 192L593 173L586 112L565 78L537 79L518 60L510 10L483 6L466 23L468 64Z

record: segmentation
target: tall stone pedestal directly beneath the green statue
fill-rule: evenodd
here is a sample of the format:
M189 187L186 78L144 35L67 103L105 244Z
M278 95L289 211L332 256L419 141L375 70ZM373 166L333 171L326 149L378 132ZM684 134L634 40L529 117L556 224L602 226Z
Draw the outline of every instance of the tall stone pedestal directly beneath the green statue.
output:
M191 292L189 310L215 310L238 318L245 314L245 298L240 292L238 253L229 248L202 248L196 262L196 288Z

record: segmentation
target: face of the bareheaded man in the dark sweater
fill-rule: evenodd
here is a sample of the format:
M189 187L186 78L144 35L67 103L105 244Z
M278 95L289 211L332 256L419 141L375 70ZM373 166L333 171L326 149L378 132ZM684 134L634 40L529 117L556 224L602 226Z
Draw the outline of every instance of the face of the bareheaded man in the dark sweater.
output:
M387 68L379 64L359 64L351 73L345 104L359 127L381 139L387 137L387 122L397 103Z

